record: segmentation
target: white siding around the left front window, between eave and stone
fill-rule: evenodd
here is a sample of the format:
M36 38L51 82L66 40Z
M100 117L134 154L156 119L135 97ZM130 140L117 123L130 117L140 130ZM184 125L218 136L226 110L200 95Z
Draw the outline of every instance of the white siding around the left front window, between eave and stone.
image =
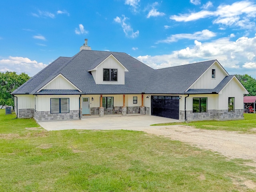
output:
M69 110L79 110L79 97L80 95L38 95L38 99L36 99L36 110L50 111L51 98L69 98Z

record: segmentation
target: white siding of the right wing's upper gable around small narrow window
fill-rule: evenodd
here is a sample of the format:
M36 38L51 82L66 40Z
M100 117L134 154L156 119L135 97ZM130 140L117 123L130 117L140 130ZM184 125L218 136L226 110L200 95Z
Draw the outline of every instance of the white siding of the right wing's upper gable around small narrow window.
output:
M212 78L212 69L215 69L215 78ZM206 72L192 84L190 89L213 89L215 88L228 74L224 69L215 62L209 67Z

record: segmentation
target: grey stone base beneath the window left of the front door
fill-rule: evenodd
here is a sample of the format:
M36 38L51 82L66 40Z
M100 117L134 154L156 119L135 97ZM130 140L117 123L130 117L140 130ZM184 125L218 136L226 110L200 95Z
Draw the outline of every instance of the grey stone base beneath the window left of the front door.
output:
M50 113L50 111L35 110L34 119L37 121L79 119L79 110L70 110L69 113Z

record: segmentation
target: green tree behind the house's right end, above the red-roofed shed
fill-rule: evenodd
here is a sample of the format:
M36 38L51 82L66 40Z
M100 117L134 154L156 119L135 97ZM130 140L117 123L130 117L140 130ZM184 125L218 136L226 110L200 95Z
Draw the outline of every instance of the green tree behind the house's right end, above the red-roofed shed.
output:
M236 77L240 82L244 85L244 87L248 90L249 94L247 96L256 96L256 79L251 76L245 75L237 75Z

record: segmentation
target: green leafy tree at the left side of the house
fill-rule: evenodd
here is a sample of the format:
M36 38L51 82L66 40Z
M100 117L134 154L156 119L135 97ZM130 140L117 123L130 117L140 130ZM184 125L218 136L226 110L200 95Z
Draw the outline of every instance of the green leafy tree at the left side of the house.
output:
M30 77L25 73L18 75L16 72L0 72L0 105L13 106L14 99L11 92L29 79Z

